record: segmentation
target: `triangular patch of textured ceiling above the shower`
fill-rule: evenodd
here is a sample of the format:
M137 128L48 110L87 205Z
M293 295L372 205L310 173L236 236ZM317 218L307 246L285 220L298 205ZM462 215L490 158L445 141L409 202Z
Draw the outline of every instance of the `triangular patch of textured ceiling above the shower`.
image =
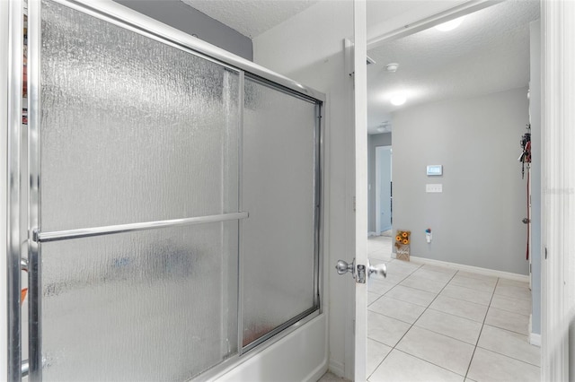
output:
M181 0L253 39L318 0Z

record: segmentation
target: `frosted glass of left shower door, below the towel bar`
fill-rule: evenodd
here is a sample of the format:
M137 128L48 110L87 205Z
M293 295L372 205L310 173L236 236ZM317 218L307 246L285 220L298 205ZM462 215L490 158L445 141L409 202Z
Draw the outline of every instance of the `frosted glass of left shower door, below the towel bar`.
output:
M182 381L237 351L238 222L42 244L44 380Z

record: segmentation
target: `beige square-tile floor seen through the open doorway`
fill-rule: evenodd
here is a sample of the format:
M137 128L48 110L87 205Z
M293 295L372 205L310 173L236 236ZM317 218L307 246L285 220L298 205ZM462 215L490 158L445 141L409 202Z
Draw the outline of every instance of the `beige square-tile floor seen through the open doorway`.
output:
M388 274L368 283L368 381L540 380L526 282L395 260L386 237L367 252Z

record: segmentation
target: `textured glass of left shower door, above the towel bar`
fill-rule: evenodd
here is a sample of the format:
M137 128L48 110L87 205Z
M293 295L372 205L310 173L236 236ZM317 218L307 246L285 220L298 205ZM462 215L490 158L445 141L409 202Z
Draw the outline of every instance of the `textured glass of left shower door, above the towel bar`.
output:
M237 211L239 74L42 2L41 228Z

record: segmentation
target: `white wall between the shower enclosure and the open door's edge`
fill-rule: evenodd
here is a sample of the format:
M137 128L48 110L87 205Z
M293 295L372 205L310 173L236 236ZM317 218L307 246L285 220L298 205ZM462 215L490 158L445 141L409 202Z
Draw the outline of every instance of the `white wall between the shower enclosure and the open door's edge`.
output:
M323 308L329 321L329 368L353 378L355 288L333 270L354 248L353 88L343 39L353 37L353 2L322 1L253 39L254 62L326 94Z

